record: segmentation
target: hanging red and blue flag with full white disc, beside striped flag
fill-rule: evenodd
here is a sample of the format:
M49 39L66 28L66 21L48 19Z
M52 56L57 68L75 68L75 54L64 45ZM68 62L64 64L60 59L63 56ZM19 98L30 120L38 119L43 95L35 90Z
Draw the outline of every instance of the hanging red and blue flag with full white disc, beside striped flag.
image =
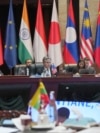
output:
M77 33L72 0L69 1L68 17L66 25L66 38L63 50L64 62L66 64L76 64L79 60Z

